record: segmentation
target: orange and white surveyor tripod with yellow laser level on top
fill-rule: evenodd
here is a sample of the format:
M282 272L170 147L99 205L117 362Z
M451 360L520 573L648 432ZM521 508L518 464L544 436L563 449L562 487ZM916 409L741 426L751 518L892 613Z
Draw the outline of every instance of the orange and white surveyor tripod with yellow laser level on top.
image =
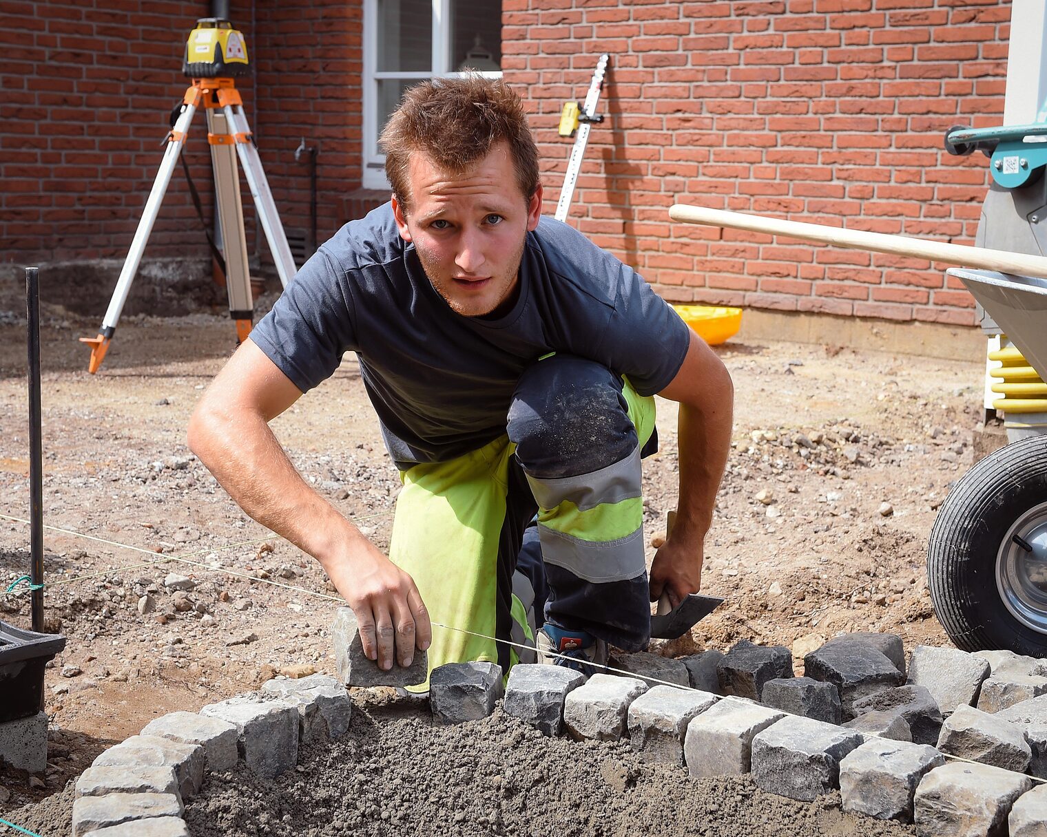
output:
M206 33L207 30L197 29L194 35L200 31ZM242 40L236 41L230 35L230 32L232 35L239 33L229 29L227 23L221 32L223 38L228 39L225 46L226 60L230 60L230 55L238 51L243 51ZM192 45L193 41L191 40ZM246 54L244 61L246 62ZM195 69L200 65L187 66L193 66ZM206 110L207 114L207 142L210 144L210 160L215 175L215 195L224 251L225 287L229 298L229 316L236 320L237 337L240 341L243 341L251 330L254 302L251 296L247 264L247 240L244 234L244 212L240 199L238 157L244 167L244 176L247 179L251 197L254 199L259 220L262 222L262 229L269 243L269 250L276 263L276 271L280 274L282 285L286 288L294 276L294 259L291 257L291 249L280 223L276 205L273 203L272 193L269 190L269 182L262 169L262 160L259 158L258 149L251 137L251 130L247 123L247 116L244 114L240 92L236 89L233 80L228 76L195 77L193 86L185 91L178 118L168 134L163 160L156 174L156 180L153 182L153 189L146 201L146 208L131 242L131 249L124 263L124 269L120 271L119 279L117 279L116 290L113 292L109 309L102 322L102 330L97 337L81 338L82 342L91 346L91 362L88 369L92 374L97 371L106 357L109 343L116 331L116 322L119 320L124 303L131 291L131 281L138 271L146 243L150 232L152 232L153 224L156 222L163 196L171 183L175 164L185 145L193 117L201 107Z

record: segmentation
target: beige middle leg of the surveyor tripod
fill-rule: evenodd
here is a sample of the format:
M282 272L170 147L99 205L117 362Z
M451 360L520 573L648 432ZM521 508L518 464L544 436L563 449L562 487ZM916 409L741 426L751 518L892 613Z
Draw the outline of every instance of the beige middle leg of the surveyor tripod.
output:
M236 140L231 129L224 113L215 108L207 109L207 141L210 143L222 251L225 256L225 290L229 295L229 316L237 321L237 336L242 343L251 330L254 303L247 264L244 210L240 199L240 173L237 152L233 150Z

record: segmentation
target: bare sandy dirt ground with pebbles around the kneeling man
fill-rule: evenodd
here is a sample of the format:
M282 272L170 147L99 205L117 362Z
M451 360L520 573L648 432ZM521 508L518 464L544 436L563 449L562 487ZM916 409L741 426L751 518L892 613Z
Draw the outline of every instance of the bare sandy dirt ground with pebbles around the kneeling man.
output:
M96 321L46 306L44 314L45 523L99 540L46 534L45 612L68 639L46 676L48 769L32 777L40 787L0 772L0 812L61 792L159 715L275 673L334 669L327 628L336 603L307 592L330 595L319 567L243 515L185 445L190 413L233 347L227 317L126 318L92 377L75 338L93 335ZM26 518L18 320L0 317L0 513ZM925 548L950 482L973 461L981 366L743 339L717 350L735 382L734 449L703 585L728 601L665 651L750 639L802 657L848 630L944 644ZM662 452L644 474L654 543L677 481L674 405L659 406ZM385 546L399 480L355 362L273 427L305 477ZM0 519L4 589L28 571L28 543L25 524ZM195 586L171 590L169 573ZM28 597L0 594L0 618L28 627Z

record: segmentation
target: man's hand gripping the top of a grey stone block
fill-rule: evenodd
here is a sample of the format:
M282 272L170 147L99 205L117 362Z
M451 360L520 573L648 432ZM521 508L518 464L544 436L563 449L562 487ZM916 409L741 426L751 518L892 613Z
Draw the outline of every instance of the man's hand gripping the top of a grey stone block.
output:
M406 668L416 648L429 647L429 613L414 580L370 541L361 537L324 568L356 615L363 653L379 669L388 671L394 660Z

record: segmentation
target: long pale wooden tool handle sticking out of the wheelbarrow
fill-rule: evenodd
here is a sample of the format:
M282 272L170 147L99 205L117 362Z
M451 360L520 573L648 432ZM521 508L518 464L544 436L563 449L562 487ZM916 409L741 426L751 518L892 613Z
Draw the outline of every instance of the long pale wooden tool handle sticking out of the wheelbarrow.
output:
M915 258L927 258L931 262L961 265L966 268L1047 278L1047 258L1039 255L1010 253L1006 250L986 250L984 247L966 247L962 244L910 239L907 235L888 235L883 232L865 232L857 229L830 227L825 224L782 221L777 218L728 212L722 209L707 209L704 206L688 206L682 203L674 204L669 208L669 218L688 224L731 227L750 232L763 232L768 235L787 235L792 239L824 242L851 250L871 250L876 253L909 255Z

